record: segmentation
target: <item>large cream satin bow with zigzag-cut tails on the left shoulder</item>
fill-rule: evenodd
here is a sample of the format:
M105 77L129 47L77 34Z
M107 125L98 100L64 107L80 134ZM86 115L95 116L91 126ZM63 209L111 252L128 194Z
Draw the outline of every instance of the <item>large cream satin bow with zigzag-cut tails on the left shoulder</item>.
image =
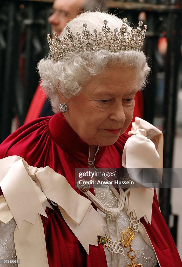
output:
M29 166L19 156L0 160L0 221L14 217L14 242L21 266L48 267L44 228L40 214L47 217L43 206L47 198L57 203L67 225L83 245L87 254L89 244L98 245L97 236L104 236L104 219L92 207L91 201L79 195L64 176L50 167ZM40 190L40 186L42 191ZM51 206L50 206L51 207ZM89 231L88 231L89 229Z

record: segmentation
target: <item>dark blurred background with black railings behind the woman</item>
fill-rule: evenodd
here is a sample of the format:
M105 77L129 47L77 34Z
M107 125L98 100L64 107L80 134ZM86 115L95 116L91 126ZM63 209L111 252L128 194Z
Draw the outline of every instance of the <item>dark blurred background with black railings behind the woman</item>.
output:
M52 4L52 0L0 2L1 142L23 125L39 84L36 65L49 51L46 34L50 33ZM144 119L164 133L164 167L182 167L182 0L120 0L107 4L110 13L128 18L131 26L133 23L136 28L140 20L148 26L143 50L151 74L142 92ZM180 252L181 191L176 192L161 189L158 194L162 214Z

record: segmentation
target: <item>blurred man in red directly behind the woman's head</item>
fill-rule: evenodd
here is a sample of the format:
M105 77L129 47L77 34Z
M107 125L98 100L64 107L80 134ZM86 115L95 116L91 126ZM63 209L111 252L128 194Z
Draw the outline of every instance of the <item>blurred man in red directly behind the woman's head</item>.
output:
M51 24L51 32L56 31L57 34L60 35L67 22L77 17L77 15L82 12L94 10L107 12L106 0L55 0L53 3L52 15L50 15L48 19ZM39 84L24 123L53 114L50 102L41 90Z

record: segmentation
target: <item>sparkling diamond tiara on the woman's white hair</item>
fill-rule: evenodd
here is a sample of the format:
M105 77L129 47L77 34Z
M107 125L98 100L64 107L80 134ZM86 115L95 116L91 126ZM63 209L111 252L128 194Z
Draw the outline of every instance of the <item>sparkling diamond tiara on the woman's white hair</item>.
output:
M82 35L77 32L74 36L70 31L70 26L66 26L67 34L66 36L61 36L61 38L56 34L56 31L53 31L53 34L55 35L54 39L51 39L50 34L47 34L47 40L49 42L50 53L52 54L53 60L58 61L69 53L85 51L139 51L145 39L147 25L144 25L143 30L141 30L143 22L139 21L137 29L131 27L130 33L128 32L127 27L128 19L124 18L122 21L123 24L120 31L118 31L117 28L115 28L113 32L110 31L110 28L107 26L107 20L104 20L104 26L99 33L97 30L94 30L93 33L91 33L87 28L87 24L84 23Z

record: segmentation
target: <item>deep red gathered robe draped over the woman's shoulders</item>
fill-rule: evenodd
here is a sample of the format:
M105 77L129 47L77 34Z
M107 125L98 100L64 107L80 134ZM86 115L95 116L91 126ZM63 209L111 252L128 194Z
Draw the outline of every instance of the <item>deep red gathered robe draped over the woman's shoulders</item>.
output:
M123 133L111 146L100 147L95 158L98 168L120 168L124 144L128 135ZM23 157L35 167L50 166L64 175L75 189L75 168L87 168L89 146L73 131L64 116L40 118L12 133L0 146L0 158L11 155ZM75 189L79 194L80 191ZM67 227L60 211L46 208L48 218L41 216L49 267L106 267L103 246L89 247L89 255ZM154 246L161 267L181 266L181 260L154 196L152 224L141 219ZM41 266L43 267L43 266ZM124 267L124 266L123 266ZM146 267L146 266L144 266Z

